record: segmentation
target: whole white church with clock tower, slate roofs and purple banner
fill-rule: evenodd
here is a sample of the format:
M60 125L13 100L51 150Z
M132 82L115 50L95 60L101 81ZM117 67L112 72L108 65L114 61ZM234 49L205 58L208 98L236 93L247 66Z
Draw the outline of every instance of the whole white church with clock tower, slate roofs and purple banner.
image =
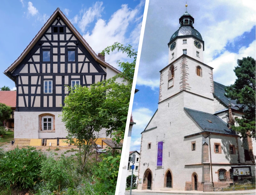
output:
M212 191L255 177L255 140L230 128L241 105L213 81L194 18L186 11L179 23L160 70L158 109L141 133L137 189Z

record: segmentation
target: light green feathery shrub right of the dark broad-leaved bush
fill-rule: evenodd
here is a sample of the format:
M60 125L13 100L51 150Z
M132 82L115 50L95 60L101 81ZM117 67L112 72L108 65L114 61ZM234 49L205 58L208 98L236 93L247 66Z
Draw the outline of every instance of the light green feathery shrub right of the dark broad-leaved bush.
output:
M59 188L59 185L68 185L67 168L63 165L63 160L55 161L52 156L48 156L41 162L40 177L44 179L47 189L53 191Z

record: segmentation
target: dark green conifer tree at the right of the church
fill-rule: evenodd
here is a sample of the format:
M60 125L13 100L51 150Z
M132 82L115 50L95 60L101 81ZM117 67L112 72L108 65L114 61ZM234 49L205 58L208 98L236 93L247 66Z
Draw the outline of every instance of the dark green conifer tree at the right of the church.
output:
M232 129L245 136L247 132L255 138L255 60L252 57L237 60L235 67L236 81L226 88L226 96L236 99L237 104L242 104L239 108L244 113L242 119L235 119L238 127Z

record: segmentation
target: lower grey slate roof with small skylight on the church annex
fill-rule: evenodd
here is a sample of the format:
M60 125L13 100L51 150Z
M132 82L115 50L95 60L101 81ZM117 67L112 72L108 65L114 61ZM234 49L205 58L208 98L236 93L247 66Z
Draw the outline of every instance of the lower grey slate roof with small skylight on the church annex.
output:
M192 119L194 119L196 123L206 132L236 135L235 131L228 128L227 123L214 114L200 112L189 108L184 108L184 110L188 112Z

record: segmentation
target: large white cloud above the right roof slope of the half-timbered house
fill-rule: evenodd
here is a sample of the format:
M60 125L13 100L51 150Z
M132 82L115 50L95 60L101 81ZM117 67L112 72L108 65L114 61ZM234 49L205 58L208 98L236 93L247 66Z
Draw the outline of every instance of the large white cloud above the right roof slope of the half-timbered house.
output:
M123 4L108 21L99 18L92 30L86 32L83 37L89 43L96 53L100 53L107 46L113 45L115 42L124 45L132 44L133 48L137 48L139 44L141 16L140 5L131 9L127 4ZM136 21L137 20L137 21ZM127 36L129 26L137 22L136 27ZM116 61L131 61L127 59L127 55L114 51L111 55L106 55L105 60L112 66L116 65Z

